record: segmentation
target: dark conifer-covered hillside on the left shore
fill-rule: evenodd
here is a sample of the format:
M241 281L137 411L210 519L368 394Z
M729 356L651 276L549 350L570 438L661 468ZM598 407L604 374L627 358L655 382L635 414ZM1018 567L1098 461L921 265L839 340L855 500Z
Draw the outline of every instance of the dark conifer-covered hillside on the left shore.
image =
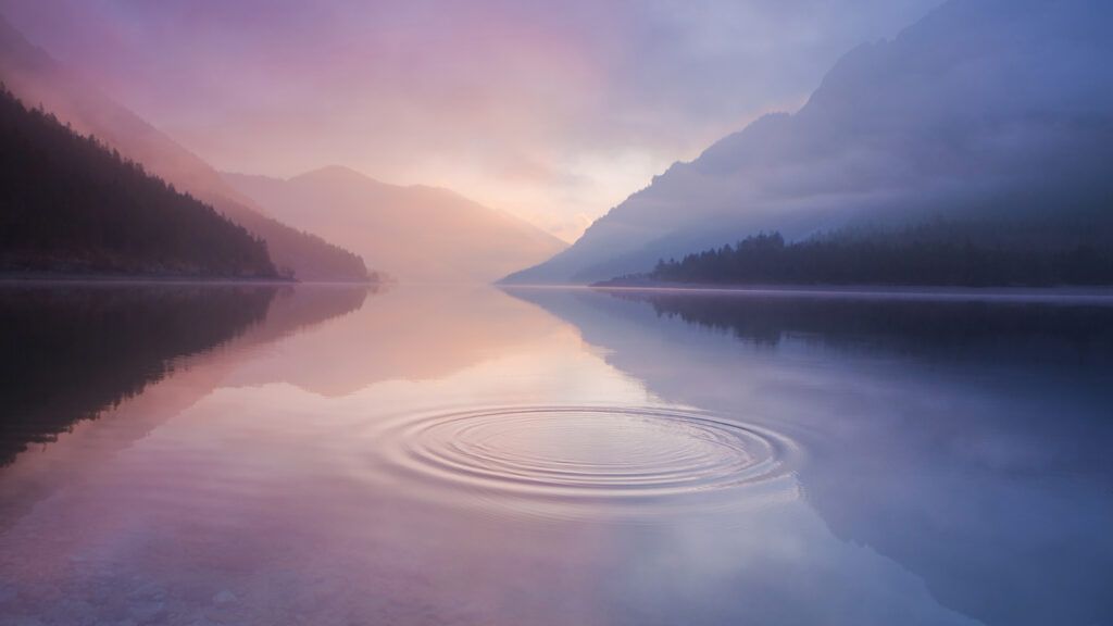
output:
M0 91L0 271L277 277L266 244Z

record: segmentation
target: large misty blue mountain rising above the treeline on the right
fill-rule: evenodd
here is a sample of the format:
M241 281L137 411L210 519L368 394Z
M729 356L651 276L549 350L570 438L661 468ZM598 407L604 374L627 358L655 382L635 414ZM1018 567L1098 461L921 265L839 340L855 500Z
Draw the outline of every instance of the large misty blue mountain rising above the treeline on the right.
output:
M1113 241L1113 7L952 0L843 57L796 114L678 163L506 278L592 282L760 231L1048 216Z

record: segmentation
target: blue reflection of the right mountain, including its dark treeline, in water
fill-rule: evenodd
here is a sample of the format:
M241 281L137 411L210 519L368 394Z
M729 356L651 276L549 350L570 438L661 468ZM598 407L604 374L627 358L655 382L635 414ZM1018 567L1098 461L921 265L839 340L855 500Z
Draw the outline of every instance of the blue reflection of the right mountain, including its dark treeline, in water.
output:
M831 532L940 604L1113 623L1113 307L512 293L667 401L791 432Z

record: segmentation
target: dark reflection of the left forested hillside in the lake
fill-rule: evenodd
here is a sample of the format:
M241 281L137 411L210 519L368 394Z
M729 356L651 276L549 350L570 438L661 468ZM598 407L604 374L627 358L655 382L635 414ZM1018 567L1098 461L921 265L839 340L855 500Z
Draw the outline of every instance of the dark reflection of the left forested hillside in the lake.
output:
M244 336L269 341L357 309L359 290L269 285L12 286L0 292L0 464ZM262 323L266 320L266 323Z

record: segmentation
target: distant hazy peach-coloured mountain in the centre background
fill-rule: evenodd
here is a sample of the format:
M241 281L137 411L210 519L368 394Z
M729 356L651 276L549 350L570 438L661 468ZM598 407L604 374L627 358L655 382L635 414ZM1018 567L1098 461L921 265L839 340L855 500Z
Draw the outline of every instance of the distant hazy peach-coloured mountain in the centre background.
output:
M225 179L272 217L354 250L404 281L486 283L565 245L447 189L388 185L345 167L286 180Z

